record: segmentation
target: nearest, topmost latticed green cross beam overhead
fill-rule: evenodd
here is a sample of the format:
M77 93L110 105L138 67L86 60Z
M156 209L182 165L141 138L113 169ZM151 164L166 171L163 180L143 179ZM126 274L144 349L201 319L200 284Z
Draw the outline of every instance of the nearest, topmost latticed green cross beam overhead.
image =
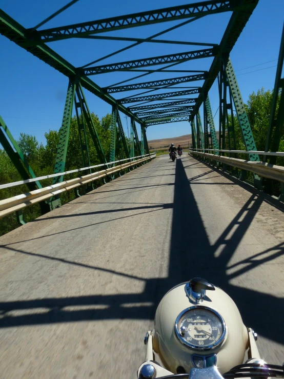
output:
M148 12L132 13L97 21L73 24L33 32L33 38L41 42L58 41L72 37L103 33L119 29L150 25L190 17L232 11L241 0L210 0L194 4L157 9Z

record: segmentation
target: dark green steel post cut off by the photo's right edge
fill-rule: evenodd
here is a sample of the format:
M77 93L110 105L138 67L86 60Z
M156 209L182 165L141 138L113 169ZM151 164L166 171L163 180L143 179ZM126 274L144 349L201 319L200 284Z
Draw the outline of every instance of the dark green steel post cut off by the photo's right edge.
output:
M265 151L278 151L281 137L283 135L283 126L284 126L284 76L282 75L282 69L284 64L284 26L282 31L278 65L275 76L275 84L273 90L273 98L271 104L271 113L269 119L269 128L266 139ZM279 99L279 107L276 115L276 105L277 100ZM271 156L269 158L269 163L272 165L276 164L276 156ZM266 155L263 156L263 162L266 161ZM283 195L282 195L283 196Z

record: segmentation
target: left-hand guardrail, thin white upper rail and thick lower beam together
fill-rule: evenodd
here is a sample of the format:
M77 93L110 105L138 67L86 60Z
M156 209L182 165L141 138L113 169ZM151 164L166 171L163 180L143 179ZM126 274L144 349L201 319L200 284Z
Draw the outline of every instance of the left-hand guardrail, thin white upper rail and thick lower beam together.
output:
M84 170L88 170L88 169L92 169L92 168L96 168L96 167L114 165L115 163L120 163L123 161L130 161L130 162L127 162L127 163L124 163L121 165L117 165L117 166L109 167L109 168L106 168L106 169L103 169L100 171L96 171L96 172L93 172L93 173L88 174L88 175L76 177L76 178L70 179L68 181L63 181L63 182L60 182L57 184L53 184L51 186L47 186L44 188L40 188L40 189L37 189L34 191L30 191L27 193L23 193L21 195L17 195L17 196L13 196L13 197L9 197L9 198L6 198L4 200L1 200L0 201L0 218L4 217L10 213L22 210L23 208L26 208L30 205L39 203L41 201L45 201L48 198L55 196L55 195L58 195L62 192L70 191L76 187L80 187L84 184L88 184L88 183L93 182L97 179L100 179L100 178L106 177L108 175L114 174L115 172L119 172L119 171L125 170L131 166L135 166L138 163L143 163L143 162L149 161L149 159L153 159L155 157L156 157L156 153L152 153L149 155L140 155L140 156L136 156L133 158L120 159L120 161L108 162L108 163L103 163L103 164L96 165L96 166L90 166L90 167L84 167L84 168L80 168L80 169L76 169L76 170L60 172L58 174L51 174L51 175L40 176L40 177L36 177L36 178L32 178L32 179L26 179L24 181L3 184L0 186L0 189L13 187L13 186L19 186L21 184L31 183L31 182L39 181L42 179L48 179L48 178L55 177L55 176L62 176L62 175L66 175L66 174L70 174L70 173L74 173L74 172L80 172L80 171L84 171ZM135 158L140 158L140 159L136 159L135 161L133 161L133 159L135 159Z

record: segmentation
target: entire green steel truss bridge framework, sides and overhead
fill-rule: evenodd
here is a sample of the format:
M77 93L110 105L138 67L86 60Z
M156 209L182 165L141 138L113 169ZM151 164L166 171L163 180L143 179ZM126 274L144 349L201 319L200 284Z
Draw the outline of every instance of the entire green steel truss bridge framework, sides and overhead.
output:
M230 59L230 53L242 30L249 22L252 12L257 7L258 0L206 0L45 29L45 24L48 21L59 13L64 12L77 1L71 1L43 22L29 29L18 24L12 17L0 10L0 33L2 35L69 78L57 157L52 174L52 185L56 186L63 183L70 122L75 108L79 128L78 144L80 144L82 150L83 169L88 168L90 174L94 172L94 167L91 167L88 144L94 144L101 166L111 169L115 167L117 157L118 163L122 162L125 165L132 163L136 157L140 160L147 156L149 159L152 158L149 154L147 142L148 127L185 121L191 127L192 146L190 148L192 149L191 153L196 158L205 160L209 164L217 165L225 171L228 170L229 166L233 166L234 169L229 171L243 181L246 180L247 171L251 171L253 172L253 185L257 188L263 188L263 177L265 177L268 183L266 188L269 192L269 188L271 189L272 186L269 183L275 178L279 180L280 174L267 173L263 170L269 170L271 168L269 165L276 164L277 155L282 155L277 153L277 150L283 133L284 119L284 78L281 77L284 57L284 32L281 40L269 131L264 152L257 151L245 104L242 100ZM161 37L163 34L181 26L194 23L201 17L224 12L229 13L230 18L219 44L190 42L188 40L172 41ZM115 32L122 29L129 29L129 34L131 35L132 28L140 27L142 36L143 28L141 27L165 22L168 23L168 27L165 30L148 37L135 38L115 35ZM169 22L175 23L170 26ZM86 63L82 67L74 67L52 49L53 42L72 38L77 40L80 38L90 39L92 42L94 40L124 41L129 42L130 45ZM153 44L163 44L168 46L167 51L169 53L167 55L147 56L143 59L116 62L116 54L128 51L141 44L150 44L152 46L154 46ZM170 49L173 46L180 48L181 52L170 53ZM108 60L113 59L114 63L102 63L107 58ZM213 62L211 65L208 64L207 70L198 70L200 59L205 58L211 58ZM193 64L197 70L188 69L187 64L190 61L194 61ZM183 64L180 66L182 68L177 67L180 64ZM129 78L105 87L100 87L96 84L96 75L101 75L100 77L105 78L106 74L113 72L127 73ZM173 73L174 77L165 79L162 77L163 73ZM134 77L133 74L135 75ZM150 80L152 74L155 74L155 80ZM156 79L157 75L160 76L160 79ZM146 76L147 81L143 81ZM218 80L219 89L218 128L214 125L208 95L216 79ZM84 94L85 89L103 99L111 107L112 123L109 157L104 153L102 143L92 121ZM128 91L131 91L131 95L128 95ZM279 111L276 114L276 103L279 96ZM201 107L204 114L203 120L201 120L199 111ZM233 111L236 112L238 125L234 125ZM131 119L130 142L127 141L125 136L120 118L121 113ZM80 115L84 117L80 117ZM230 117L231 124L229 125ZM140 141L137 133L138 124L141 128ZM32 167L29 166L2 118L0 118L0 125L0 143L22 176L23 183L27 184L29 191L44 191L40 184L40 179L36 178ZM86 139L87 128L92 138L92 141L89 142ZM235 128L241 129L246 151L236 150ZM219 130L219 134L216 133L216 129ZM238 153L246 153L248 160L245 163L237 162ZM259 155L263 157L262 162ZM230 161L228 161L228 158L230 158ZM250 166L248 166L249 163L251 163ZM237 171L235 171L235 168ZM83 169L78 169L78 171ZM49 177L51 176L49 175ZM114 173L111 177L114 177ZM281 186L280 199L282 199L284 193L282 181ZM50 197L49 200L45 198L45 201L40 201L42 213L47 212L49 208L52 210L58 206L60 206L60 194ZM21 220L21 210L17 210L17 212L19 212L17 215Z

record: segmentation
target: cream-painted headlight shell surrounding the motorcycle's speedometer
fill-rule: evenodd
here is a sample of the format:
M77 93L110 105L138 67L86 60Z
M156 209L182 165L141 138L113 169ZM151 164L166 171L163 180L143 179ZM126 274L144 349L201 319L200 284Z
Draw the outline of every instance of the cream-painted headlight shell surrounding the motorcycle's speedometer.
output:
M189 372L194 367L192 354L202 356L216 354L216 366L220 373L242 364L248 344L248 332L231 297L215 287L214 291L206 291L203 301L194 304L190 302L185 291L187 283L171 289L158 305L154 320L154 352L159 355L165 368L173 373L177 373L179 366ZM211 308L224 318L226 335L220 345L208 350L197 350L179 340L175 331L177 317L182 311L193 306Z

